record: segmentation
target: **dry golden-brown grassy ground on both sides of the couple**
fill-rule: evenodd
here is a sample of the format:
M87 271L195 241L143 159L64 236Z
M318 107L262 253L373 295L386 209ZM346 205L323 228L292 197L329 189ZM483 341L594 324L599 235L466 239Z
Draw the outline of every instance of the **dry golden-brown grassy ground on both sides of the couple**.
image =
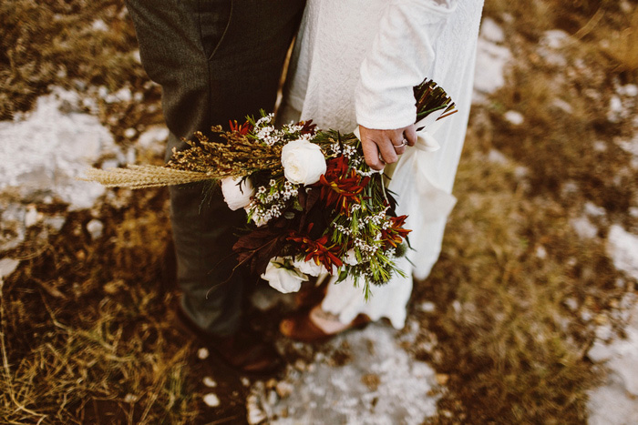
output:
M144 87L122 11L118 0L3 2L0 117L27 110L51 84L89 95L91 86ZM598 372L586 357L592 326L611 320L618 299L636 290L606 257L604 236L612 223L638 230L629 214L636 171L615 143L636 130L635 112L608 119L615 87L637 82L638 42L622 41L638 36L638 9L635 1L488 0L485 15L502 25L515 62L508 84L472 112L458 207L441 259L410 305L437 348L413 351L449 376L437 422L581 423ZM559 63L538 50L556 28L574 35ZM129 126L160 121L147 107L157 106L157 89L145 94L137 106L99 103L118 141ZM509 110L524 122L504 119ZM121 205L69 214L46 243L8 253L26 260L0 298L0 418L241 421L236 380L219 382L221 408L201 404L205 366L191 361L194 347L167 319L174 295L159 285L170 240L166 192L117 198ZM606 211L594 238L571 226L587 203ZM98 241L85 230L93 215L105 223ZM417 308L426 300L434 313Z

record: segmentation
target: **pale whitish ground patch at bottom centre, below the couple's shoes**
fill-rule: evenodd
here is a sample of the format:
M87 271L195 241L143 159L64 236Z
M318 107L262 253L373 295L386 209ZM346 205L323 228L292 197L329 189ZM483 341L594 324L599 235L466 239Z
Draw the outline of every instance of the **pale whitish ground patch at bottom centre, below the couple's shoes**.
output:
M404 337L414 339L414 335ZM404 339L405 340L405 339ZM272 388L259 381L248 399L251 423L419 424L437 413L436 373L402 349L383 324L341 335L312 363L289 366ZM334 359L343 358L335 364Z

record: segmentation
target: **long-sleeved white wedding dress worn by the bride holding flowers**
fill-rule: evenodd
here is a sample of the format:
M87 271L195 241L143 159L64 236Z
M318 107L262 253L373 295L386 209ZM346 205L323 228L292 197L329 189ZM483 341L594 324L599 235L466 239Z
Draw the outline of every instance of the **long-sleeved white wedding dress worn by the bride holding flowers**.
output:
M426 278L440 253L450 195L468 124L483 0L308 0L284 89L280 120L312 119L350 132L415 122L412 87L434 79L458 113L440 121L436 152L401 157L390 183L397 214L407 214L414 250L397 265ZM414 155L412 155L414 154ZM420 173L420 174L419 174ZM407 260L411 260L412 264ZM344 323L359 313L406 321L412 278L395 276L365 302L352 282L330 283L322 309Z

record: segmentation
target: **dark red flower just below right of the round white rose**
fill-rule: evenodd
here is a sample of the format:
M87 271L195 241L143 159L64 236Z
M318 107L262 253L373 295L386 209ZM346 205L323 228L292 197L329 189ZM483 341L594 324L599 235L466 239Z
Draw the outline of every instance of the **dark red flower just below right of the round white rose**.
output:
M321 199L327 207L337 205L341 212L349 216L350 204L361 203L361 194L370 177L360 176L355 168L349 168L344 156L329 159L326 165L325 174L319 177L317 183L321 185Z

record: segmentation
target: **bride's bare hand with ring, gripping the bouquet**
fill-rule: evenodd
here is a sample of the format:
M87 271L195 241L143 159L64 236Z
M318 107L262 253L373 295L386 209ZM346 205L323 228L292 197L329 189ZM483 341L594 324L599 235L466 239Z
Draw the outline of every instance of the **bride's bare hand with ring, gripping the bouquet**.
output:
M376 170L396 162L398 156L406 151L406 146L412 147L417 143L417 128L414 124L395 130L374 130L359 126L359 132L365 163Z

